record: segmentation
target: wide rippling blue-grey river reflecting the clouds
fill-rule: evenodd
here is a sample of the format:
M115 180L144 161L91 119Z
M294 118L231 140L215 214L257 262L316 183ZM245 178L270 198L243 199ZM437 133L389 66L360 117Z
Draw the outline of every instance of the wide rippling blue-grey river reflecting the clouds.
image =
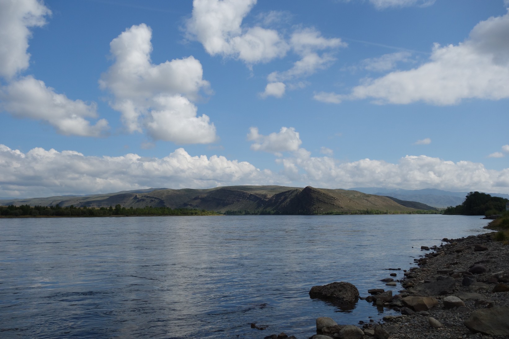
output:
M421 245L484 233L487 223L446 215L0 219L0 337L307 338L317 317L357 324L393 314L364 300L341 310L310 299L312 286L350 282L361 296L389 289L379 280L401 279Z

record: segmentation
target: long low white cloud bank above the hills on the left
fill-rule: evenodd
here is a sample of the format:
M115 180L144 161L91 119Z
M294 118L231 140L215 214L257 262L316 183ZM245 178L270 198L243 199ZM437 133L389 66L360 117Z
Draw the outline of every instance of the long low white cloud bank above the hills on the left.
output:
M92 194L150 187L211 188L284 182L277 174L221 156L190 156L178 148L164 158L90 157L37 147L26 153L0 144L0 195Z

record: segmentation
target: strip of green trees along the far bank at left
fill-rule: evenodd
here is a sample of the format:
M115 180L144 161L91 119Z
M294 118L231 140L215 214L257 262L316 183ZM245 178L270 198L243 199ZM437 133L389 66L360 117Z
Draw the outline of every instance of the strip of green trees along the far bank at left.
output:
M110 217L112 215L217 215L217 212L205 209L170 208L161 207L122 207L120 204L109 207L75 207L74 205L61 207L51 206L30 206L30 205L9 205L0 206L0 215L3 217Z

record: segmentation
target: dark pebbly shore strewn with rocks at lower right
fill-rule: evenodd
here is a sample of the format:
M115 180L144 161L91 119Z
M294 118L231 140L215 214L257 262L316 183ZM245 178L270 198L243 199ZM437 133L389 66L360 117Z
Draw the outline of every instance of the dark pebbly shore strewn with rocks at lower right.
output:
M390 307L401 315L356 326L318 318L317 334L310 339L509 338L509 245L494 241L494 234L443 239L431 249L422 246L423 257L415 259L418 267L396 282L403 288L399 294L374 289L372 295L359 297L358 302Z

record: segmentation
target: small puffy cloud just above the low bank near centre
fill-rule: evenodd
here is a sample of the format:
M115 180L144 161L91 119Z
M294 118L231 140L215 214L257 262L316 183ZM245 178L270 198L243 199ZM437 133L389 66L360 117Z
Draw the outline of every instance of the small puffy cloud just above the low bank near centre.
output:
M299 132L296 132L293 127L281 127L278 133L274 132L269 135L262 135L258 132L258 128L251 127L247 134L247 140L254 141L251 144L252 150L261 150L276 155L280 155L281 152L296 151L302 143Z

